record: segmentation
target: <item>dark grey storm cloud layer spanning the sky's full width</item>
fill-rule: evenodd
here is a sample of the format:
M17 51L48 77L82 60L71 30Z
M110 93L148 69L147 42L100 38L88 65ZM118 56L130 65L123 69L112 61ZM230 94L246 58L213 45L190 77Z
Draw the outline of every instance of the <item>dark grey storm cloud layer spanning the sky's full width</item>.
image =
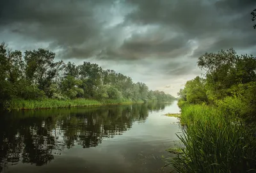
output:
M119 1L119 10L133 10L128 10L124 21L109 28L106 26L113 16L108 11L116 2L1 1L0 29L48 41L52 48L63 49L60 56L67 58L175 58L191 50L188 40L198 41L194 54L198 57L205 51L243 49L256 43L250 21L254 0ZM129 38L126 27L134 27ZM145 31L139 32L140 27ZM204 38L215 41L205 45Z

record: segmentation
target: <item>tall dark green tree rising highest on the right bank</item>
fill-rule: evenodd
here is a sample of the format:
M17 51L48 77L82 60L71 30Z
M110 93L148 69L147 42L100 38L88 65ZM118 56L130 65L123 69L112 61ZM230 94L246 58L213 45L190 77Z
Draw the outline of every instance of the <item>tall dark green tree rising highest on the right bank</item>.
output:
M239 83L255 81L256 59L237 56L234 49L218 53L205 53L198 59L198 66L205 70L207 94L211 100L228 96L227 89Z

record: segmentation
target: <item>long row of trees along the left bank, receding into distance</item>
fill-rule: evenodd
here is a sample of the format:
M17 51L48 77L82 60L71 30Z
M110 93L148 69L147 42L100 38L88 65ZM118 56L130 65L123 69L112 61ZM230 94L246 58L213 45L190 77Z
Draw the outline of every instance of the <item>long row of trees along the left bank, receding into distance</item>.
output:
M131 77L102 70L98 64L76 65L55 61L49 50L11 50L0 45L0 105L11 108L24 100L118 100L148 102L173 100L171 94L152 91ZM48 100L49 101L49 100ZM22 107L22 105L17 106Z

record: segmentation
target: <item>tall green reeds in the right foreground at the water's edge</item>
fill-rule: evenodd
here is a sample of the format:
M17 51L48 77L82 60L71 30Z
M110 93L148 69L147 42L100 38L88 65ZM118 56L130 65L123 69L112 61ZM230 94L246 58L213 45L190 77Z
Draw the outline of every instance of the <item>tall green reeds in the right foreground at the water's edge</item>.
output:
M216 107L186 105L178 135L182 152L171 161L178 172L256 172L255 135Z

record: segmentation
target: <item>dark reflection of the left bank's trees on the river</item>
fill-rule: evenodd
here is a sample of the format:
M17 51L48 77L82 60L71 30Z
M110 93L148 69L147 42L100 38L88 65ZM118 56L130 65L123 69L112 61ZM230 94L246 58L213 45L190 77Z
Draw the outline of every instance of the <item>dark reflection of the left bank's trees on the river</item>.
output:
M6 165L45 165L54 153L75 145L95 147L104 138L122 135L134 121L145 121L148 110L163 104L122 105L86 109L13 112L0 117L0 171Z

